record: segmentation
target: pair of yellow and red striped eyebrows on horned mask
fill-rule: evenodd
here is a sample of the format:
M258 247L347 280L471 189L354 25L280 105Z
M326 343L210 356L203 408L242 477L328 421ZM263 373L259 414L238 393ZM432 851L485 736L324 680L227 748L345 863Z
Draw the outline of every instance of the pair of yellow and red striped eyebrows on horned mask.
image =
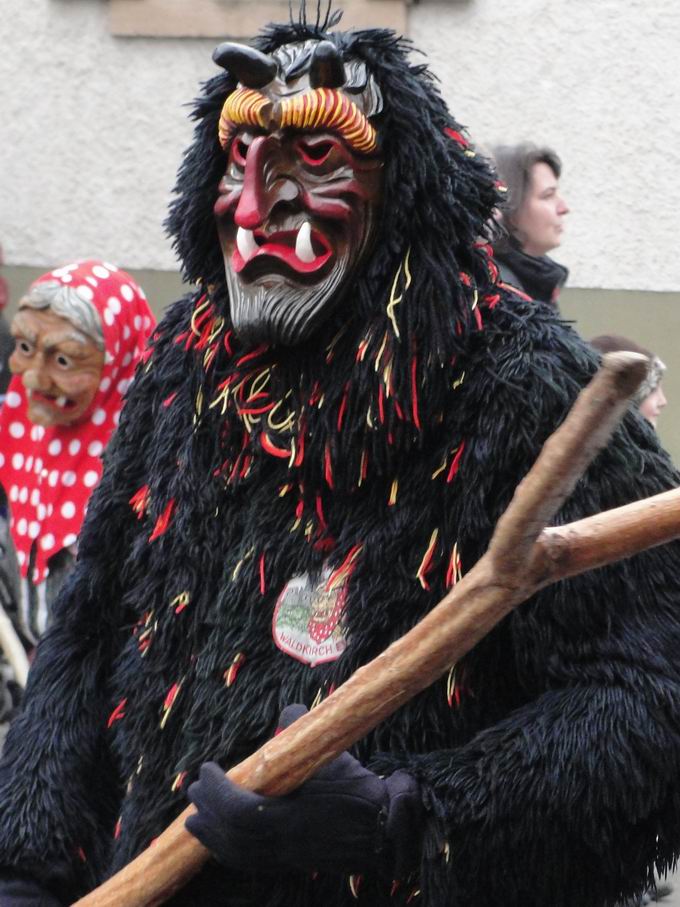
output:
M270 110L268 116L266 108ZM239 126L325 129L337 132L359 154L371 154L378 147L377 133L366 116L335 88L312 88L274 105L259 91L239 88L229 95L220 116L220 144L225 150Z

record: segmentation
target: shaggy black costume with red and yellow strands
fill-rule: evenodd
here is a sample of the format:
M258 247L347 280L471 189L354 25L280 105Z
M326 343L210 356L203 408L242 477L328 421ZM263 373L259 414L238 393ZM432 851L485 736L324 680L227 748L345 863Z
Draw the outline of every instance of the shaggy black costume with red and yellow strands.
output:
M259 46L319 34L276 27ZM211 208L233 81L198 103L169 224L202 289L138 372L0 774L0 862L62 898L146 847L203 761L238 762L282 706L311 706L417 622L595 370L549 306L496 284L477 244L493 175L408 46L331 38L383 92L386 201L343 312L302 348L241 349L230 331ZM283 427L265 449L244 400L268 367L258 402L280 403ZM631 413L560 520L677 480ZM276 648L272 610L325 562L353 570L348 647L311 668ZM172 903L603 907L641 891L680 849L679 572L673 544L544 590L356 746L422 785L412 878L353 893L346 877L211 863Z

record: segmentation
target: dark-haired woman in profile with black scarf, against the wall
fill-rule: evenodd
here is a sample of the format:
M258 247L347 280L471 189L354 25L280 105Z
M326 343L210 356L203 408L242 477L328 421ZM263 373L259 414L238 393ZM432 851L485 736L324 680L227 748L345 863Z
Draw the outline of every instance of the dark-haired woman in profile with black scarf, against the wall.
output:
M500 212L502 235L494 243L501 279L544 302L557 302L569 272L548 252L562 241L569 213L559 191L562 162L551 148L530 142L492 151L506 189Z

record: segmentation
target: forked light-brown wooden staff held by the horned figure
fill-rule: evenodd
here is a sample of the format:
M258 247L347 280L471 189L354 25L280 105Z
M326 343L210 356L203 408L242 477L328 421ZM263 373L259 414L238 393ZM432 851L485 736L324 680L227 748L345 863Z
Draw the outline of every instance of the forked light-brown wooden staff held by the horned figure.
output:
M267 795L288 793L441 677L512 608L538 589L680 535L680 489L544 529L607 443L647 372L613 353L582 391L515 491L487 553L409 633L360 668L319 706L229 771ZM153 907L194 875L209 851L184 828L189 806L153 846L78 907Z

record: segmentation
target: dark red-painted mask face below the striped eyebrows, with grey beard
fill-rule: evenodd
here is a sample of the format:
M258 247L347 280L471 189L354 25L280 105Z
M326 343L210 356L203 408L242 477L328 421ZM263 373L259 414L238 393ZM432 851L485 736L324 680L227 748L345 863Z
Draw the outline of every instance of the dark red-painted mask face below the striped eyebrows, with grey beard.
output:
M241 125L228 155L215 216L234 328L249 342L295 345L342 304L370 248L382 161L328 127Z

